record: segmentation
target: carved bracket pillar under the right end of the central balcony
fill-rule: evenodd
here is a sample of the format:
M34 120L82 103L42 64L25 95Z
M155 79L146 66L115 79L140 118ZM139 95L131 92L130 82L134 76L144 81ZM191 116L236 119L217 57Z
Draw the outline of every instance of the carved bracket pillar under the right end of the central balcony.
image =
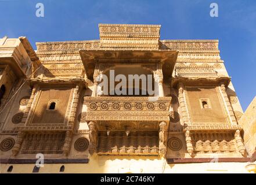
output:
M159 154L165 157L167 151L167 123L161 121L159 124Z

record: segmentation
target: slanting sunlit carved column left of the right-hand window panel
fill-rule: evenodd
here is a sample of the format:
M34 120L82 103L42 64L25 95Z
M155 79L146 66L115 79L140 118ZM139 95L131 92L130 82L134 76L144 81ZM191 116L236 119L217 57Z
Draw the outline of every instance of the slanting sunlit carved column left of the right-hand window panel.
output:
M178 90L179 90L179 106L181 106L181 113L182 113L182 119L184 125L189 125L189 114L188 110L186 108L186 103L185 103L185 96L184 96L184 85L183 83L178 84Z

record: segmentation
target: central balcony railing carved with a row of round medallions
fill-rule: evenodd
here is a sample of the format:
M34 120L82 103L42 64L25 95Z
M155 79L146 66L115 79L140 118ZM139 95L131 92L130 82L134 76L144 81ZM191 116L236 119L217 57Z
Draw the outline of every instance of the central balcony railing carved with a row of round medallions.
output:
M84 97L86 121L167 121L171 97Z

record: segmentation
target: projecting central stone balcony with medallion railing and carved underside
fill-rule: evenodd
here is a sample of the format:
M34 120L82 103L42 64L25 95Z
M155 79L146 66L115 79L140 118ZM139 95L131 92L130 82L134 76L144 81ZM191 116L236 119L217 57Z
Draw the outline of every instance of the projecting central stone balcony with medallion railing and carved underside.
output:
M84 97L84 103L90 154L165 156L171 97Z

